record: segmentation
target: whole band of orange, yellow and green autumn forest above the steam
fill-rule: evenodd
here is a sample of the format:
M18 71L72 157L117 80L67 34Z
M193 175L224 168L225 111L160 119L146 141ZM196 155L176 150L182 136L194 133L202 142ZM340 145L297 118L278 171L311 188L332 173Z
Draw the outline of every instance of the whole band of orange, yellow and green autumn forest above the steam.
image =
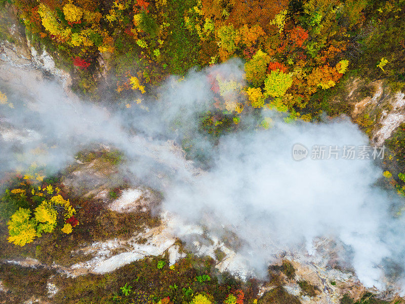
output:
M146 93L148 83L156 84L172 70L168 62L183 66L185 59L178 59L184 53L183 42L198 49L189 57L195 57L193 64L199 67L239 57L246 62L247 98L228 98L222 106L219 103L224 100L214 102L216 108L232 109L237 115L242 107L248 110L270 101L264 101L260 91L265 98L281 97L287 92L276 89L277 82L278 89L282 87L281 79L288 80L292 100L300 100L282 98L281 103L291 112L319 115L319 108L315 110L309 101L314 93L334 87L349 68L348 56L356 58L351 53L360 52L358 39L367 34L363 31L366 15L373 11L401 18L400 4L392 0L381 5L367 0L196 0L181 4L167 0L16 0L15 5L26 26L56 45L60 53L66 52L82 74L102 65L100 53L104 59L119 57L115 67L119 97L125 94L136 99L139 92ZM373 62L373 67L384 71L384 62ZM79 83L86 88L87 82ZM128 101L123 104L131 106Z

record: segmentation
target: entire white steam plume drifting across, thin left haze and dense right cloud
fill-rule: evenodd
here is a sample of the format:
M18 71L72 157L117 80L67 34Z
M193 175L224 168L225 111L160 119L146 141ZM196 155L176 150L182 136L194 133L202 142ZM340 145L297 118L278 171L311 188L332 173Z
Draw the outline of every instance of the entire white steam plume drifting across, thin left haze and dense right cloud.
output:
M214 145L197 124L198 114L212 107L210 73L243 79L238 61L191 71L161 87L157 101L144 100L148 110L134 102L113 110L68 100L55 83L38 82L26 91L0 78L0 90L15 104L0 106L0 172L32 161L59 170L79 149L110 144L124 152L123 169L164 192L164 209L220 238L234 234L238 252L259 275L280 251L316 254L313 239L328 237L344 244L342 258L366 286L383 288L385 263L399 271L404 266L405 225L391 214L395 196L375 184L381 170L371 160L292 158L295 143L359 146L367 137L348 120L285 124L268 113L274 116L269 130L245 128ZM168 148L167 140L185 137L210 160L210 169L196 174ZM33 153L38 146L46 154Z

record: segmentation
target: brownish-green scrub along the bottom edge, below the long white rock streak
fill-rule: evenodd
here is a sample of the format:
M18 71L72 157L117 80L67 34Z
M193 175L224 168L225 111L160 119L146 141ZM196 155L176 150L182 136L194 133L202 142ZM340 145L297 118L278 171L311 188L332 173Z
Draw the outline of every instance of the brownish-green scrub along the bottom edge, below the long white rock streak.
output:
M220 274L203 282L196 280L198 276L209 276L215 271L214 265L209 257L193 255L181 259L174 267L169 267L169 261L161 257L144 258L105 275L58 277L56 285L61 290L53 300L56 304L112 304L158 302L170 297L174 304L181 304L201 293L223 302L229 293L244 285Z

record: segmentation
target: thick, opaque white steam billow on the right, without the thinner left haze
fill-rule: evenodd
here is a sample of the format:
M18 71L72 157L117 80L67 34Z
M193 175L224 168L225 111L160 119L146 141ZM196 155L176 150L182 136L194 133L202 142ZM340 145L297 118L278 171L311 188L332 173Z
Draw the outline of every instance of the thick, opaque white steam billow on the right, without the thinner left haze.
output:
M393 249L387 238L398 239L395 246L403 248L401 236L391 230L403 227L403 220L392 218L391 199L374 185L381 170L367 160L296 162L292 146L297 142L308 147L368 143L348 121L277 123L269 131L227 136L212 170L187 185L176 184L166 196L166 209L219 236L225 226L262 274L279 252L313 253L314 238L340 240L352 251L345 262L363 284L381 288L381 263Z

